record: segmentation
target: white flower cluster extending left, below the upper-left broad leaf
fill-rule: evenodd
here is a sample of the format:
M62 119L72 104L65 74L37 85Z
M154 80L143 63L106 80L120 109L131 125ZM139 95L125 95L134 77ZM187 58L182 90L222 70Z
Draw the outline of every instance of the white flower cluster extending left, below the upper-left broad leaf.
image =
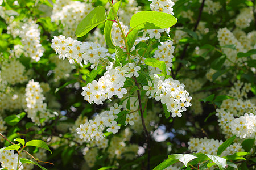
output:
M90 62L92 64L91 68L98 66L100 58L106 57L108 50L102 47L100 44L95 44L93 42L80 42L71 37L67 39L65 36L54 36L52 39L52 48L59 58L68 58L70 63L75 63L75 60L80 65L82 60L84 64Z

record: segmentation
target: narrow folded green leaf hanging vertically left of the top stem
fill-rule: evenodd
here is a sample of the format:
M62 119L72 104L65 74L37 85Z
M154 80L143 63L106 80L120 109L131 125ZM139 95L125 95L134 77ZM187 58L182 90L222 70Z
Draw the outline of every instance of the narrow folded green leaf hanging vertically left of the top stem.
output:
M119 8L121 7L122 1L118 1L117 3L114 4L114 10L117 12ZM106 20L105 27L104 27L104 37L106 44L108 45L109 48L115 48L115 45L112 42L112 36L111 36L111 29L113 25L113 21L110 20L115 20L115 16L113 15L113 10L112 8L109 11L108 15L108 20Z

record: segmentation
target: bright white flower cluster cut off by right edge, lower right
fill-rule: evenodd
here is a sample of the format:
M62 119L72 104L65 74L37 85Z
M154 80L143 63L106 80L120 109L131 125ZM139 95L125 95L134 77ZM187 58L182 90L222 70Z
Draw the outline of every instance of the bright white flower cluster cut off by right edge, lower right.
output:
M256 116L245 113L244 116L235 118L231 123L232 133L238 138L254 138L256 134Z

